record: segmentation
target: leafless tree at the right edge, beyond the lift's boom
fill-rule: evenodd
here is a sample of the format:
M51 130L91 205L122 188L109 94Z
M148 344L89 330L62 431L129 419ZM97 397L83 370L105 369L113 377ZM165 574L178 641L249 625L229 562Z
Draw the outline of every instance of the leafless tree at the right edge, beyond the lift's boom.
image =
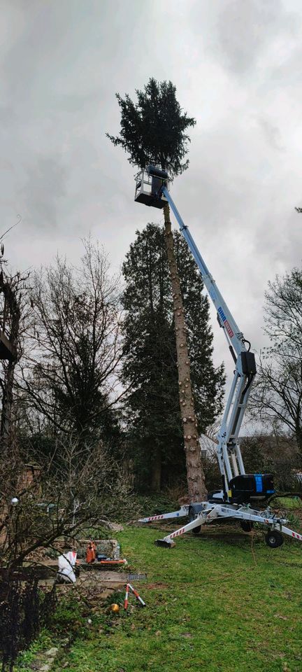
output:
M302 458L302 272L276 276L266 292L264 349L252 394L257 419L275 423L296 440Z

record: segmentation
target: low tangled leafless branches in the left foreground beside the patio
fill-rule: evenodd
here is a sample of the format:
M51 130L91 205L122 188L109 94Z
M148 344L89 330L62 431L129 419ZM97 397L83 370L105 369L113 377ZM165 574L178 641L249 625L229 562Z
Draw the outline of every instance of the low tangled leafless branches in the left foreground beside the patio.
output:
M17 444L0 458L0 566L7 576L62 535L72 543L87 526L133 515L124 472L101 442L57 440L30 481L29 462Z

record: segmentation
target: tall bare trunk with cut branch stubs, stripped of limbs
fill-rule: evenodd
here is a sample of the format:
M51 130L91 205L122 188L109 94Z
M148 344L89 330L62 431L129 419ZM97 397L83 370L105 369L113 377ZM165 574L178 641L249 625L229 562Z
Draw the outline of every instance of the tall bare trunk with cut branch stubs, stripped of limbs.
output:
M180 414L185 442L187 486L190 501L197 502L203 501L206 498L207 491L203 466L201 463L197 419L195 416L194 399L192 395L189 351L187 347L187 328L185 325L185 314L180 291L180 279L174 254L170 209L168 204L164 207L164 223L168 265L173 294L178 383L180 390Z

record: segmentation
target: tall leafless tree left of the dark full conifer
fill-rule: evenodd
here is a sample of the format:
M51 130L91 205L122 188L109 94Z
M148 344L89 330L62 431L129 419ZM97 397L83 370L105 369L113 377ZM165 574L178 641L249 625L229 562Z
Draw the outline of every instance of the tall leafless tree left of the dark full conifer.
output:
M34 276L34 328L22 364L20 402L55 430L87 438L122 395L119 277L84 241L79 268L57 258Z

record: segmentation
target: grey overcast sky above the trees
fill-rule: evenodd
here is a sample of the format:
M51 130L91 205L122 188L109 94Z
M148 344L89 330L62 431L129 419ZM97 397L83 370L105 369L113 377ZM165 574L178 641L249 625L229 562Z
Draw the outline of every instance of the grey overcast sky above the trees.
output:
M89 231L115 269L137 228L115 92L171 80L197 124L172 195L245 337L264 344L269 279L301 265L301 0L1 1L1 230L15 269L77 262ZM216 321L215 361L228 353ZM230 370L233 368L229 363Z

